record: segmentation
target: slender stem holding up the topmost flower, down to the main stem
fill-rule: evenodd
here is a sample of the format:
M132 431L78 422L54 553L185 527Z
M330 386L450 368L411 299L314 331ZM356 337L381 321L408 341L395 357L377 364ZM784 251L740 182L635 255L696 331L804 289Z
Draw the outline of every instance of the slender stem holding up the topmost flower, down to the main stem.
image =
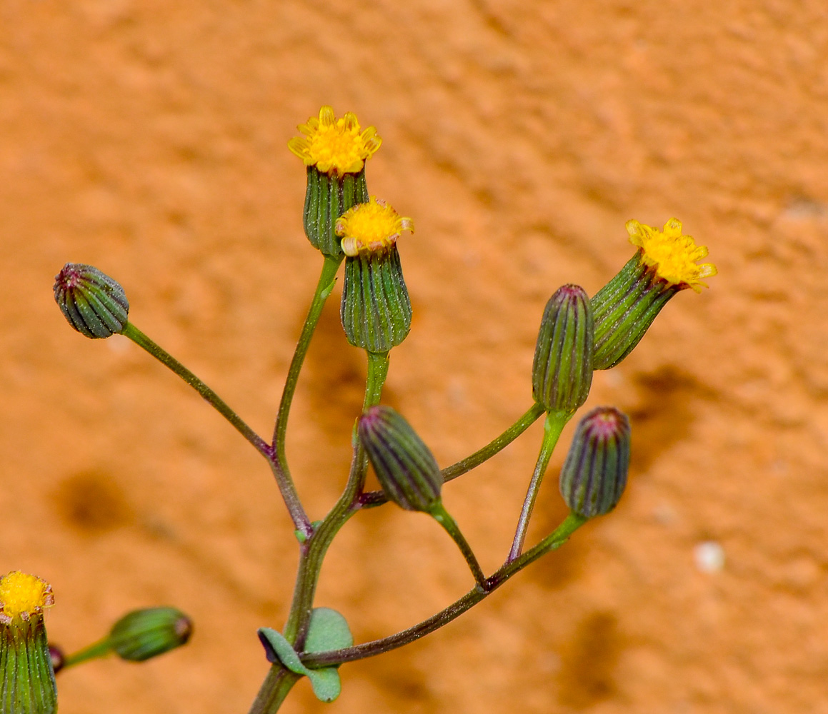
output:
M285 388L282 391L282 400L279 403L279 413L276 417L276 424L273 427L273 443L271 446L273 475L276 477L279 490L282 491L282 498L285 500L287 510L291 513L296 530L305 538L310 537L313 529L305 513L305 509L299 500L299 495L296 493L296 486L293 483L291 471L287 467L285 453L287 418L291 412L293 395L296 393L296 383L299 381L299 373L302 364L305 362L305 356L308 347L310 347L310 340L313 338L316 325L319 323L322 308L325 307L325 300L328 299L331 291L334 290L336 271L339 270L339 264L342 262L343 257L325 256L325 262L322 263L322 271L316 283L316 290L310 302L310 309L308 309L305 324L302 326L299 342L296 343L296 350L293 352L291 366L287 370Z

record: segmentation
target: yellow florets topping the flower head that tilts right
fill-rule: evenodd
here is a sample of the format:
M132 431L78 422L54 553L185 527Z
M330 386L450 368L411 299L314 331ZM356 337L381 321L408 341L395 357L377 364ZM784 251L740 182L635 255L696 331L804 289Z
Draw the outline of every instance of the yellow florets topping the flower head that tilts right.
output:
M681 221L671 218L664 224L664 230L645 226L638 221L627 221L629 242L641 249L641 260L652 267L656 275L671 285L691 287L701 292L704 278L718 272L712 263L696 265L707 256L705 246L697 246L690 236L681 235Z

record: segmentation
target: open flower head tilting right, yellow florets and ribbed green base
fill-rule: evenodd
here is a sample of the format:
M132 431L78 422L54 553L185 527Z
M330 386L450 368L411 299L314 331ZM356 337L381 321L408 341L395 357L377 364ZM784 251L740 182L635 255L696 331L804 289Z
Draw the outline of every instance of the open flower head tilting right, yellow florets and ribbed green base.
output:
M696 265L707 248L681 235L671 218L664 230L627 222L629 241L638 252L592 299L595 314L594 369L615 367L633 351L667 301L680 290L697 293L703 278L715 276L710 263Z

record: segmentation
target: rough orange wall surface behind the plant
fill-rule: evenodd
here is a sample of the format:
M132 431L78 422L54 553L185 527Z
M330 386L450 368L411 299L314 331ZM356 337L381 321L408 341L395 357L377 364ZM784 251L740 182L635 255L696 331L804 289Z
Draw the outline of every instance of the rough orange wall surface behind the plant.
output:
M296 544L253 449L125 338L70 330L53 276L121 281L132 321L267 434L320 267L286 141L324 103L378 128L369 189L416 221L387 400L443 465L527 409L546 299L613 276L628 218L676 215L720 275L595 376L589 405L633 422L612 515L445 630L346 665L334 705L301 683L283 711L828 712L823 0L4 0L0 569L51 581L66 649L137 606L196 626L152 663L61 675L60 712L246 712ZM291 419L316 518L364 373L337 297ZM539 438L446 488L489 572ZM564 513L564 451L534 539ZM344 529L318 604L364 641L469 586L435 524L387 506Z

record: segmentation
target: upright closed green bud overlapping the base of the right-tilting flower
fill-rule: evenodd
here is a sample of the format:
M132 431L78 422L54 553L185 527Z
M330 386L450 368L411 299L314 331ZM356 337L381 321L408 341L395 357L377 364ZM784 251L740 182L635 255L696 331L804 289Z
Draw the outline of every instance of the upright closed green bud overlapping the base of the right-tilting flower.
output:
M547 412L571 414L590 395L592 340L590 298L564 285L546 303L532 363L532 395Z

